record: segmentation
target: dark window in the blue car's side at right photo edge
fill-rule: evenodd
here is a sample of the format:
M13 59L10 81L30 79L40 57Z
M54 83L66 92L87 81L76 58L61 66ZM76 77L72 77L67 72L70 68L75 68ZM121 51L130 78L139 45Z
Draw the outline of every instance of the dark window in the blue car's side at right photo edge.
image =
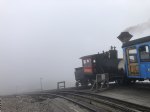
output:
M149 52L149 46L144 45L139 47L139 55L141 61L150 61L150 52Z

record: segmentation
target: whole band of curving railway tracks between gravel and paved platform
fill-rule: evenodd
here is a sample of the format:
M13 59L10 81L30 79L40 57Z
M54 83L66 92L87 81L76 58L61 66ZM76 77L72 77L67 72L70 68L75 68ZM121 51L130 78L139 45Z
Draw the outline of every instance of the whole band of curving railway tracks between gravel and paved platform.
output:
M146 106L79 90L63 90L38 95L45 98L60 97L92 112L150 112L150 108Z

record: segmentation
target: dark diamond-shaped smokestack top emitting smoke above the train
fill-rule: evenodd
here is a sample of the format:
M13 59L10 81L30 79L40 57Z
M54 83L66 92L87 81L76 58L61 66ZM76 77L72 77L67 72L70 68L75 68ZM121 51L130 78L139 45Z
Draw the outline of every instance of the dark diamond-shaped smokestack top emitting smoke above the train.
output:
M122 32L117 38L122 42L128 42L133 36L129 32Z

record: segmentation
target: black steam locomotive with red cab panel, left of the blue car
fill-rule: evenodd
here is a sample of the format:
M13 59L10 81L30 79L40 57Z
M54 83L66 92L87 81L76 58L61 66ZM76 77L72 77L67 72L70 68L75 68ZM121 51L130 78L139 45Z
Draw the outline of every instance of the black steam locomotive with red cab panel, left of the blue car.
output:
M124 78L122 68L118 69L118 65L122 59L118 58L118 52L115 47L107 52L87 55L80 58L82 67L75 68L76 86L87 86L93 84L96 74L109 74L109 81L120 81Z

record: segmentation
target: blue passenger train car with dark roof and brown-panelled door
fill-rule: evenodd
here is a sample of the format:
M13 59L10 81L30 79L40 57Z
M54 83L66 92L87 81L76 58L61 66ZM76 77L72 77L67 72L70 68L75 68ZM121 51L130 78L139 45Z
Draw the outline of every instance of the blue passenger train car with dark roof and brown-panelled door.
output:
M131 81L150 80L150 36L123 43L125 74Z

